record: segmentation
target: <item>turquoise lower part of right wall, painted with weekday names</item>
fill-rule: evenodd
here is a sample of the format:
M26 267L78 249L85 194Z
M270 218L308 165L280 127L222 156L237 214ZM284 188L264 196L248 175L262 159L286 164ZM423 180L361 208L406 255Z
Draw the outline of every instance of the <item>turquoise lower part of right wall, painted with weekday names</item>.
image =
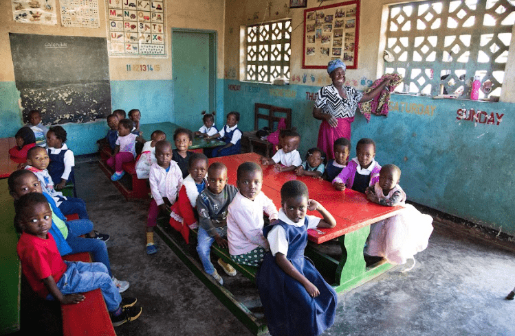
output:
M319 88L226 80L224 104L227 111L241 113L243 131L254 128L256 102L292 108L292 125L303 137L300 154L304 156L316 146L320 121L311 116L310 95ZM515 208L509 197L515 184L511 159L515 157L515 104L410 95L393 95L391 104L388 117L372 116L370 123L356 115L353 146L363 137L374 139L377 161L402 169L400 183L409 200L515 235ZM458 113L459 109L467 112ZM470 109L485 113L474 123L466 120ZM492 113L490 121L485 115Z

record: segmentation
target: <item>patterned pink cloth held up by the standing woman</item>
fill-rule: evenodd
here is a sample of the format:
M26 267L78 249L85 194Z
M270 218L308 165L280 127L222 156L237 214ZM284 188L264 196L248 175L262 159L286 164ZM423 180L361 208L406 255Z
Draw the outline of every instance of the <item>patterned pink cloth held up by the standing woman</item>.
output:
M390 84L384 86L379 95L369 101L364 101L359 104L362 115L365 116L366 122L370 121L370 115L384 115L388 116L388 102L390 101L390 94L395 90L397 85L402 83L404 78L398 73L386 73L379 80L375 80L372 86L366 89L365 93L371 92L374 88L379 86L384 80L391 79Z

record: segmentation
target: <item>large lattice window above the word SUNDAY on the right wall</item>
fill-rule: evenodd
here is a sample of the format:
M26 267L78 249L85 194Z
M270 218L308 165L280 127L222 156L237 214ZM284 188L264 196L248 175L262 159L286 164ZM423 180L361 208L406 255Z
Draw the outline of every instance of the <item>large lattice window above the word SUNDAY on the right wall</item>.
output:
M400 92L468 98L478 76L480 99L499 96L514 23L515 0L389 5L385 73L404 76Z

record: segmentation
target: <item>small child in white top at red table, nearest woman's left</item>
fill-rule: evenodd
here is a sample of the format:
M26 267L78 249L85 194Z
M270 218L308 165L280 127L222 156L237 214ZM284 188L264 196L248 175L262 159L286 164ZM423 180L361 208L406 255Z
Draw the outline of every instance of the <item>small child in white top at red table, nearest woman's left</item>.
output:
M303 163L297 150L300 144L300 135L293 130L283 132L282 134L281 149L272 158L262 156L261 163L263 165L274 165L278 171L292 171Z

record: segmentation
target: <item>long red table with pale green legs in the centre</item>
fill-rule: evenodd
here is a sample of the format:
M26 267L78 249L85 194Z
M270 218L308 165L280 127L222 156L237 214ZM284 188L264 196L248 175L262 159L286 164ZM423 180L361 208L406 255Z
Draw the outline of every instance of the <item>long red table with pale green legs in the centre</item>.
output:
M210 163L224 163L228 167L228 183L235 185L238 166L247 161L260 163L260 157L255 153L238 154L211 158ZM337 191L331 182L325 180L296 176L294 172L280 173L274 169L274 166L261 165L261 167L263 168L261 191L274 201L277 208L281 207L283 184L289 180L301 180L307 184L309 197L320 202L336 219L336 227L320 228L319 232L309 230L308 237L309 241L316 244L338 238L342 247L340 261L318 252L313 246L311 248L308 246L306 251L306 254L314 259L319 270L324 269L331 275L335 274L333 287L336 291L348 291L393 267L386 261L366 267L363 247L370 233L370 224L395 215L402 210L401 206L381 206L369 202L364 194L357 191L350 189ZM318 212L310 214L318 215Z

